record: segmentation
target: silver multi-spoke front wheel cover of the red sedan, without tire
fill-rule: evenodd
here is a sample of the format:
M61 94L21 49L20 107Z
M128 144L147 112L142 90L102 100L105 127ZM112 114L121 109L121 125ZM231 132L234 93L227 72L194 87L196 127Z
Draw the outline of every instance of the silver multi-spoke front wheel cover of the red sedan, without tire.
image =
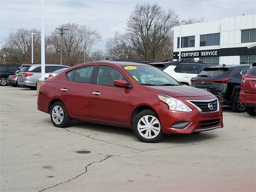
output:
M161 125L156 117L146 115L140 118L137 128L142 137L152 139L160 133Z

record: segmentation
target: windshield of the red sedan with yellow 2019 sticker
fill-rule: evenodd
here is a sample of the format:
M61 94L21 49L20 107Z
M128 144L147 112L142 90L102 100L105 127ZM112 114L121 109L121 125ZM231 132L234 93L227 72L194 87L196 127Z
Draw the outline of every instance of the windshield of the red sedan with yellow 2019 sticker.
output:
M124 66L124 69L141 85L180 85L171 76L152 66Z

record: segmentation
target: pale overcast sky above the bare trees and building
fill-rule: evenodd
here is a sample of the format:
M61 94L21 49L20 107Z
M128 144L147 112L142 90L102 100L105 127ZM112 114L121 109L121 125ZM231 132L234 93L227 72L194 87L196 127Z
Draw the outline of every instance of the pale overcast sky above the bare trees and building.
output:
M63 23L86 24L102 35L96 48L104 50L106 38L116 30L123 32L135 4L144 2L172 8L182 19L209 21L256 13L256 0L45 0L45 34ZM40 27L41 0L0 0L0 42L18 28Z

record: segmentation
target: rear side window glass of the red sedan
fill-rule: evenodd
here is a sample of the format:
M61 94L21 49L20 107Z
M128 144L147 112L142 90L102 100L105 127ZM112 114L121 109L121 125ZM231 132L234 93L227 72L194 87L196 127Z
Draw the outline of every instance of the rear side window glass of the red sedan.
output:
M80 83L90 83L93 66L76 68L66 73L68 80Z

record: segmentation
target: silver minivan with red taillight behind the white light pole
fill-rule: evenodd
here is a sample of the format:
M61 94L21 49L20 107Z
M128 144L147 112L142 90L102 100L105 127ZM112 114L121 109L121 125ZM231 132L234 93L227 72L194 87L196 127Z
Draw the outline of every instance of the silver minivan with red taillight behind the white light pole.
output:
M50 73L58 69L68 68L65 65L45 64L45 72ZM18 77L18 85L24 85L36 90L36 83L41 78L41 64L23 65Z

